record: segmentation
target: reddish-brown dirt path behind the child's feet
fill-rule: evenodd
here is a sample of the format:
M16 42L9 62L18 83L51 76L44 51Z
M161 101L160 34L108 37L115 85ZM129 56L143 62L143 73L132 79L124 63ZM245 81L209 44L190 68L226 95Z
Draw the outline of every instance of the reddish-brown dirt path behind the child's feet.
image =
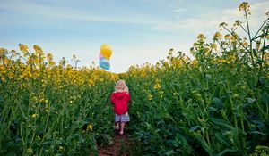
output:
M127 147L129 145L129 137L128 135L118 135L115 134L113 139L113 144L105 146L105 147L99 147L98 149L98 155L99 156L106 156L106 155L115 155L115 156L121 156L121 155L128 155Z

